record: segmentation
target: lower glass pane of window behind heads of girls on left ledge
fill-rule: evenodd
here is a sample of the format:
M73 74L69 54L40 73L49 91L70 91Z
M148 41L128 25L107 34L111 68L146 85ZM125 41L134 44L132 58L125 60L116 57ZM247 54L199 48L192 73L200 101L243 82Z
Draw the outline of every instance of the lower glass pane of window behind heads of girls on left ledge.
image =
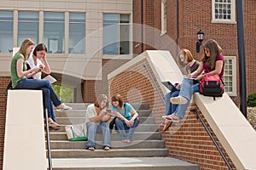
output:
M38 44L38 22L19 22L18 25L18 47L26 38L31 38L33 42Z

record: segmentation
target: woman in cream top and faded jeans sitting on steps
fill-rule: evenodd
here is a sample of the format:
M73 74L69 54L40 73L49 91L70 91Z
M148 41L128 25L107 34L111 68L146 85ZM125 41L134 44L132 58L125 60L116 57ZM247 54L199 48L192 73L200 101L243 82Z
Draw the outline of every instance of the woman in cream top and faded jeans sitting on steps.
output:
M86 127L87 127L87 144L85 150L95 150L96 133L102 131L103 150L111 149L111 139L108 127L108 120L111 118L108 115L106 108L108 106L108 97L101 94L94 104L90 104L86 110Z

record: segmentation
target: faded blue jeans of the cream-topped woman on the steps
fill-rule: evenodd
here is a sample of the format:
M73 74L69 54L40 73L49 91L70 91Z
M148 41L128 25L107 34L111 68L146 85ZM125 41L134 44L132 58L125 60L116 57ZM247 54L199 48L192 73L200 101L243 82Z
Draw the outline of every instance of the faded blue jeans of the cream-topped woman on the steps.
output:
M110 139L110 132L108 127L108 122L100 122L98 125L96 122L87 122L87 144L85 149L89 147L95 148L95 137L96 133L102 132L103 137L103 146L111 147L111 139Z

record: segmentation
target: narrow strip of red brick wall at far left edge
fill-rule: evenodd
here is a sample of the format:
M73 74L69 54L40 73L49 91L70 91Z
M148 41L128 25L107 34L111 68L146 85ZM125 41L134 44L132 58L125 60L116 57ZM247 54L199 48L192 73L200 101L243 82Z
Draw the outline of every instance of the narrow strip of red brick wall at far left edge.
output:
M9 81L10 77L0 77L0 167L3 167L3 145L7 105L7 92L5 89L9 84Z

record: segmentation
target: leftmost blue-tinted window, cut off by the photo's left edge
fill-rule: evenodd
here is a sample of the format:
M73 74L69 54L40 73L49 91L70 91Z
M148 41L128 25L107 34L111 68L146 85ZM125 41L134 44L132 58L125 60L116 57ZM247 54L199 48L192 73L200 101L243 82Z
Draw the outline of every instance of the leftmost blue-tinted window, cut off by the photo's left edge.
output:
M14 46L14 12L0 11L0 53L12 53Z

